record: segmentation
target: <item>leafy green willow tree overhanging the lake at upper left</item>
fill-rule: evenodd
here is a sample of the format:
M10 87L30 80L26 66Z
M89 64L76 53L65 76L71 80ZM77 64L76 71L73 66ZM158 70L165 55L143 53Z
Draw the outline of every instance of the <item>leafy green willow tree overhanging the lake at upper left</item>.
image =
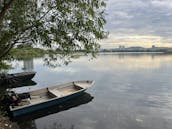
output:
M0 58L18 44L62 55L94 54L104 31L105 0L0 0Z

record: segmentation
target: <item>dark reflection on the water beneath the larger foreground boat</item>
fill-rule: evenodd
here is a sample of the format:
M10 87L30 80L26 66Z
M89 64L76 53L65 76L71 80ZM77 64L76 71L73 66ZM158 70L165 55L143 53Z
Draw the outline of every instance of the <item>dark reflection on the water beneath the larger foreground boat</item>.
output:
M51 106L49 108L42 109L42 110L33 112L31 114L28 114L28 115L15 117L13 120L18 121L19 125L20 125L20 123L22 123L22 125L24 125L23 124L24 121L34 120L34 119L48 116L50 114L55 114L55 113L59 113L59 112L65 111L65 110L69 110L71 108L75 108L80 105L87 104L87 103L91 102L93 98L94 97L92 97L90 94L84 92L80 96L75 97L75 99L67 100L61 104L57 104L57 105Z

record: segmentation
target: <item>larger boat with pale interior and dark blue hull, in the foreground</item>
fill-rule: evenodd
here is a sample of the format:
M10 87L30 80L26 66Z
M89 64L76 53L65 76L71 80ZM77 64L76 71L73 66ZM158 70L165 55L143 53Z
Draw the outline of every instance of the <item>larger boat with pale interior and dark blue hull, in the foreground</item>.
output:
M45 109L81 95L86 89L91 87L93 83L93 81L89 80L74 81L27 93L15 93L15 96L20 98L20 102L12 103L9 106L9 110L13 117L17 117L40 109ZM16 99L13 95L9 94L9 96Z

